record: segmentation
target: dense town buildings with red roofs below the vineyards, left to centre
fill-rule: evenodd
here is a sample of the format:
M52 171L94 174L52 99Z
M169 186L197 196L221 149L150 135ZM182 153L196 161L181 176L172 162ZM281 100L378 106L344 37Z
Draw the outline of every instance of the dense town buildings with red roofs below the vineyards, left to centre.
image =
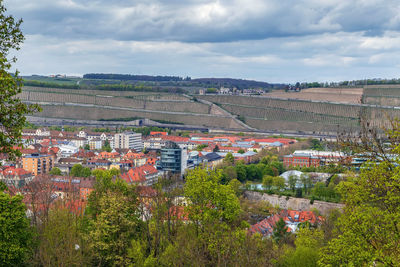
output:
M23 187L35 176L46 175L54 167L68 176L72 167L118 169L128 183L152 185L165 173L183 175L187 169L202 164L214 168L228 153L235 160L250 162L261 149L289 146L296 142L287 138L245 136L209 136L193 133L186 137L167 132L140 133L52 131L26 129L22 156L7 162L0 155L0 180L9 186ZM107 148L107 149L105 149ZM110 151L110 152L107 152Z

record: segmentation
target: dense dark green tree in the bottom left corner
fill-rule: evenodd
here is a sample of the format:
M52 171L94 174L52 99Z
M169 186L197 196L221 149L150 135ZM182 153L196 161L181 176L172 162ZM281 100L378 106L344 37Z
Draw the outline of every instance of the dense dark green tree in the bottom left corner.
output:
M0 265L21 266L29 256L32 231L21 195L10 196L0 182Z

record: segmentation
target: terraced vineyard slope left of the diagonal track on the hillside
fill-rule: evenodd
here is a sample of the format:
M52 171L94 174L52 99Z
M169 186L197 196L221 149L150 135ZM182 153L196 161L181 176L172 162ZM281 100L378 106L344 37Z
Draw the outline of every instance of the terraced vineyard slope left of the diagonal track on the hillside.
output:
M34 115L46 118L148 118L187 125L245 129L240 121L216 109L215 105L192 101L185 95L25 87L18 97L27 103L39 103L43 110Z

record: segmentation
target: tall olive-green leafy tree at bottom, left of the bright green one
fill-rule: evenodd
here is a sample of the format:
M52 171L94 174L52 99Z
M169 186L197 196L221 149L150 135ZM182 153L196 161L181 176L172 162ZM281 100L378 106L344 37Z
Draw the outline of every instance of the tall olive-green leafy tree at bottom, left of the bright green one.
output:
M118 170L95 170L96 184L89 196L84 239L91 251L92 264L126 266L131 240L140 227L138 200L133 186L121 179Z

